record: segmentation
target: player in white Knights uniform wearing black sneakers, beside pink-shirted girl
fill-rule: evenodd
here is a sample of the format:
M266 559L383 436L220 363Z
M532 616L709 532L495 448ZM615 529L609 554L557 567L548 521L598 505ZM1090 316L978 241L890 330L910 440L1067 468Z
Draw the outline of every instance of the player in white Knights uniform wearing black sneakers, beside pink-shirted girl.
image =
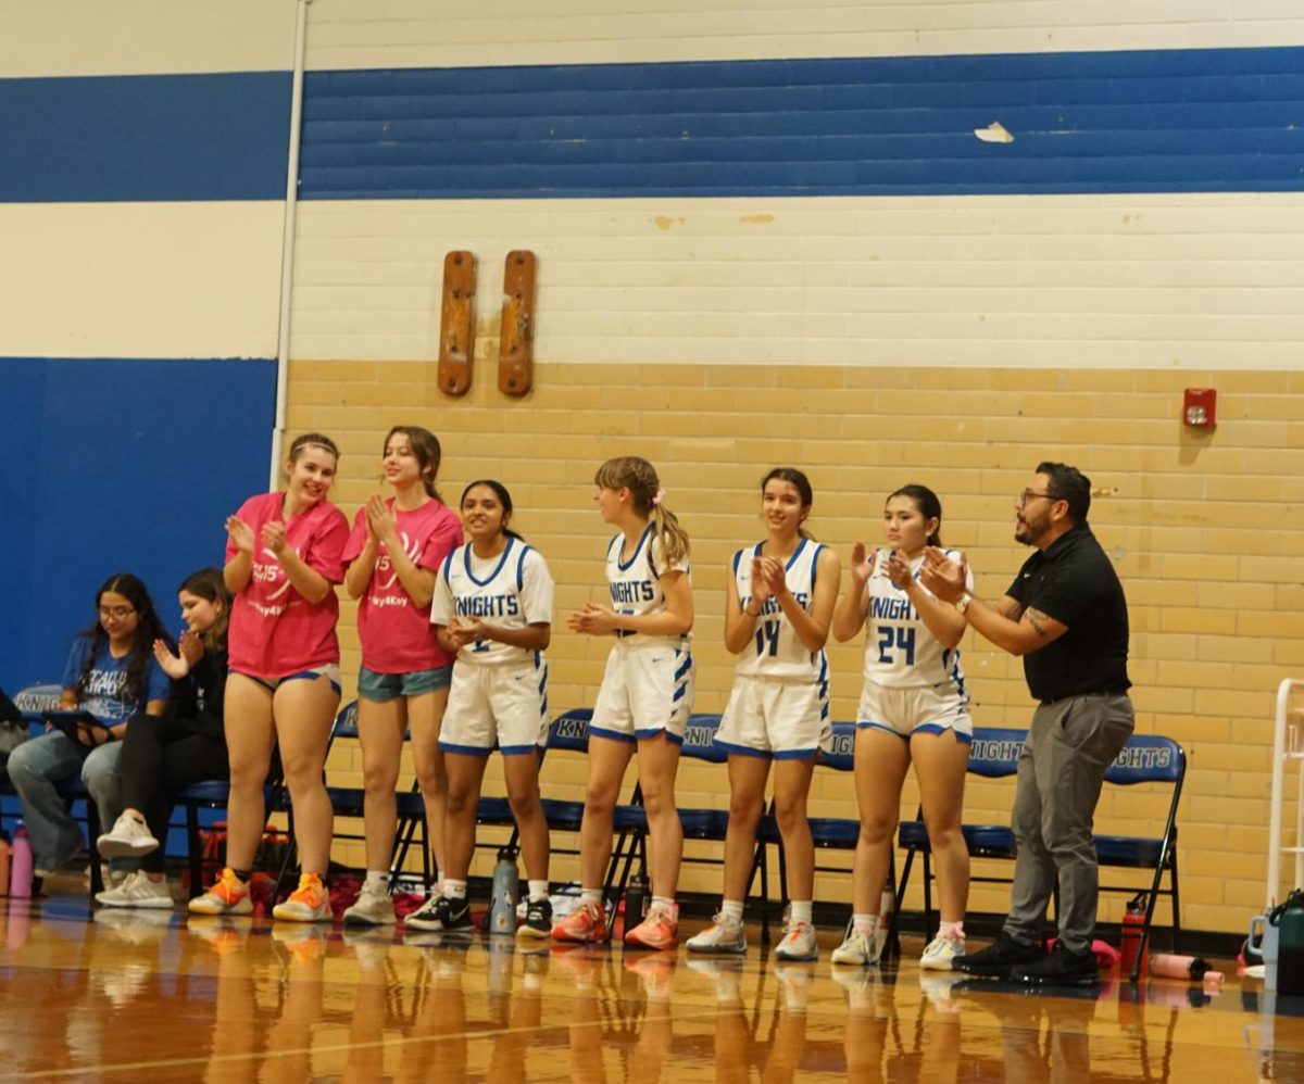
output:
M416 930L469 932L467 873L476 848L476 809L485 762L502 753L507 801L520 830L529 878L523 938L546 938L548 821L539 800L539 753L548 737L548 664L553 578L539 551L507 524L511 494L499 482L472 482L462 494L471 541L445 559L434 581L430 624L456 653L439 749L449 773L445 846L449 865L439 892L407 917Z

